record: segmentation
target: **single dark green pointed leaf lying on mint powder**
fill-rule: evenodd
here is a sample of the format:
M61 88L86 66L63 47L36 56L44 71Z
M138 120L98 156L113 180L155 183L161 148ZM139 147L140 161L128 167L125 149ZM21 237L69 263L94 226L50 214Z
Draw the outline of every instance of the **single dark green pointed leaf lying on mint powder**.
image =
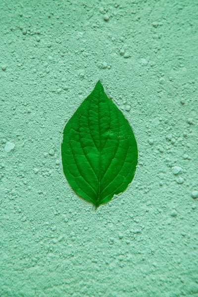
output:
M100 81L66 124L61 154L70 186L96 208L125 191L133 180L136 139Z

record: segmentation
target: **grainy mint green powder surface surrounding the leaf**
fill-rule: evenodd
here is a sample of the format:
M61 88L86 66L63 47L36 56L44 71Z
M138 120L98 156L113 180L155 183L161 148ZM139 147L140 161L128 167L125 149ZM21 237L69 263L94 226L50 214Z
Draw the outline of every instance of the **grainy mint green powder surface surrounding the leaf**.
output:
M198 295L197 4L0 0L1 297ZM99 79L139 164L94 212L60 143Z

